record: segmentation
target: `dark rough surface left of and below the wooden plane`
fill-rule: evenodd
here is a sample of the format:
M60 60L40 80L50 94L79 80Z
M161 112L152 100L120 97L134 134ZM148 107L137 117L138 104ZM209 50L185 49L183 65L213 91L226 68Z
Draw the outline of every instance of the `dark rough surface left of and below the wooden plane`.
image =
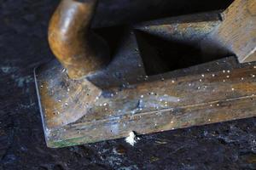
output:
M134 1L135 2L135 1ZM0 169L256 169L256 119L49 149L33 68L53 59L47 26L59 1L0 0Z

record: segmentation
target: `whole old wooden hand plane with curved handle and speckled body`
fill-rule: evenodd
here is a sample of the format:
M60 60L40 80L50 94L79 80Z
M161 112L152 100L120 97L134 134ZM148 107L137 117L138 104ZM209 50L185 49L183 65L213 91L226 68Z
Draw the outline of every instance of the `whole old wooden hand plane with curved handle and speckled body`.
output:
M256 116L255 0L127 26L114 49L90 26L96 6L62 0L50 20L56 59L35 69L49 147ZM183 53L195 65L175 67Z

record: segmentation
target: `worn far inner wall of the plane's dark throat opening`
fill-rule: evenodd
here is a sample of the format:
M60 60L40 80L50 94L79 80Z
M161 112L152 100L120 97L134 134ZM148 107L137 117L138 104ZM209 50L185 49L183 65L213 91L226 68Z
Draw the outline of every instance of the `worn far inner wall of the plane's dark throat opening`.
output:
M208 11L199 14L187 14L172 18L150 20L137 24L136 30L160 37L167 41L196 44L207 37L216 26L221 24L219 14L222 11Z

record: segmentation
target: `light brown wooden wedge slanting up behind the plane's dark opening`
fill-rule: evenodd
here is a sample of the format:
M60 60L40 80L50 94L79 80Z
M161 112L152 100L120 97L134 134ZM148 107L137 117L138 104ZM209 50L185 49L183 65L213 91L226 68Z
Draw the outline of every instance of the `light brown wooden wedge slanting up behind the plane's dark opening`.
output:
M202 50L205 54L236 54L241 63L255 61L256 1L235 0L221 15L223 22L201 42Z

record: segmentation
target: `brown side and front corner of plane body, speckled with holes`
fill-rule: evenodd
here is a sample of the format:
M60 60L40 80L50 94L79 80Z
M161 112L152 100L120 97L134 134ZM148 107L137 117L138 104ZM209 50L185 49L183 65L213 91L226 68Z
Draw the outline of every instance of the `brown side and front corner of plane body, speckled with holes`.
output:
M49 147L119 139L131 131L156 133L256 116L256 67L239 65L233 57L198 65L201 74L193 74L195 68L190 68L186 76L171 72L146 77L131 87L107 88L102 93L87 80L69 80L61 65L48 68L39 71L37 80Z

